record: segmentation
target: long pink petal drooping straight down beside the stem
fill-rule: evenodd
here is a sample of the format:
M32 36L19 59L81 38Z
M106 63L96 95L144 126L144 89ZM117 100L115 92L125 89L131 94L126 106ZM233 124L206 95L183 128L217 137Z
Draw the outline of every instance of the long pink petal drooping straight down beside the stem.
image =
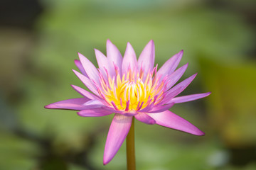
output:
M103 164L108 164L117 154L132 124L132 116L115 114L107 134Z

